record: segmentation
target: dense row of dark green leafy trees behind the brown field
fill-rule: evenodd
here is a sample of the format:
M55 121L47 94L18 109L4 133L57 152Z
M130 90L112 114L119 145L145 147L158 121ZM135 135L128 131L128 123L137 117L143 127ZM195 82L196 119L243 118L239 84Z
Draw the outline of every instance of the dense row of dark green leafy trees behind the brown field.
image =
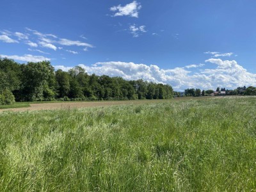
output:
M20 64L0 58L0 100L2 104L16 101L42 100L127 100L169 99L172 86L138 79L96 76L81 67L65 72L54 70L49 61Z

